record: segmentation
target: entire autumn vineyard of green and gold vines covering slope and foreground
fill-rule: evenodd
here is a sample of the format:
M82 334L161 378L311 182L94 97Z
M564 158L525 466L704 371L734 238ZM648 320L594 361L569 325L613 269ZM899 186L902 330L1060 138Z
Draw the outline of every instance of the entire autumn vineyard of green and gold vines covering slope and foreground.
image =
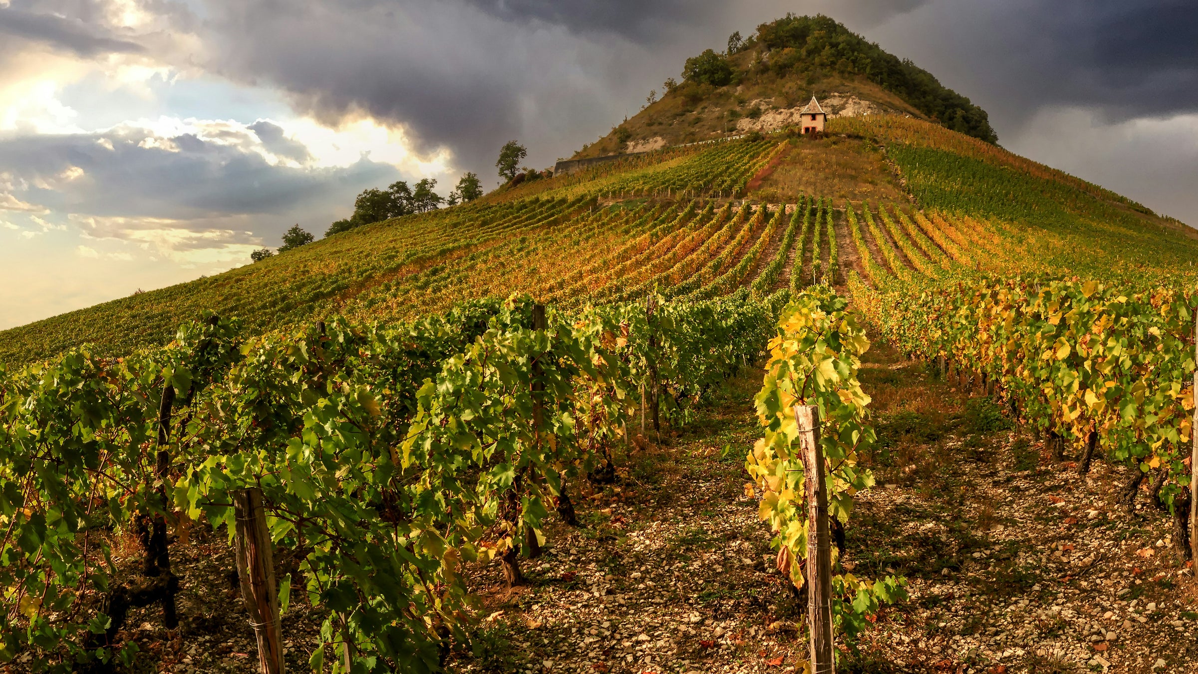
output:
M139 652L133 624L182 630L176 597L195 578L176 573L180 550L214 535L232 543L259 648L225 668L480 670L484 637L508 609L491 610L479 578L494 570L508 591L547 588L549 562L534 560L617 524L592 499L651 491L634 457L702 445L720 397L751 377L752 441L738 435L720 458L743 485L731 501L757 516L745 544L768 550L745 592L774 591L774 618L781 604L800 607L792 618L827 607L836 657L861 666L859 644L907 625L903 607L924 601L926 613L928 572L878 561L877 541L858 537L878 524L858 512L881 507L883 473L912 479L916 459L908 470L893 457L934 426L910 421L916 403L895 402L889 379L871 379L871 339L919 386L961 397L958 426L990 415L975 426L1040 447L1021 479L1067 468L1089 485L1095 467L1118 469L1124 510L1146 492L1167 513L1172 552L1162 538L1142 556L1170 554L1181 568L1198 546L1198 241L1139 204L925 121L841 118L828 130L631 155L0 333L0 660L101 672L165 658ZM758 198L795 146L842 142L877 154L909 199L776 186L776 200ZM946 451L943 437L925 440ZM624 525L611 541L630 540ZM1181 583L1178 568L1160 578ZM558 579L575 586L589 572ZM541 602L510 597L525 628L544 622L530 608ZM1112 614L1131 609L1111 602ZM316 636L284 651L279 615L298 606L319 615ZM597 625L589 649L615 630ZM805 627L791 627L801 643ZM800 645L775 663L738 634L719 627L685 662L806 661ZM1109 667L1106 637L1102 649L1084 639L1093 650L1061 656L1069 667ZM588 651L600 655L577 670L661 666L646 648ZM946 672L1005 672L986 668L1016 657L936 648L919 662ZM551 669L543 660L521 670Z

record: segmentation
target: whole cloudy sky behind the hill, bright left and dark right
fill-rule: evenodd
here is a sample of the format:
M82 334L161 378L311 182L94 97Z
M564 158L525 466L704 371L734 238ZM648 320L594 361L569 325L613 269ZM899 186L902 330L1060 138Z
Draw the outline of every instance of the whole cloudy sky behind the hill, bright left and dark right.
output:
M0 0L0 329L247 264L353 197L546 167L823 12L1021 155L1198 224L1192 0Z

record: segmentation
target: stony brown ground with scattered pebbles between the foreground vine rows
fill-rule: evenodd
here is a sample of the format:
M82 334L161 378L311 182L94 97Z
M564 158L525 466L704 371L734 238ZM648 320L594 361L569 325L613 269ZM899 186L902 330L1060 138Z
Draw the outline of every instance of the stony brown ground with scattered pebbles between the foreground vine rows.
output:
M544 554L525 560L526 585L504 588L497 565L474 570L477 639L449 670L801 672L803 607L744 489L760 377L733 380L660 445L642 443L615 485L571 486L582 525L551 526ZM839 670L1198 670L1194 580L1148 481L1127 512L1115 503L1126 468L1099 461L1079 477L997 405L883 347L861 380L875 398L878 485L857 498L841 560L863 578L906 577L910 597L873 616ZM132 612L131 670L256 672L225 536L194 531L171 550L182 626L163 630L157 608ZM119 567L137 555L117 541ZM323 620L301 595L283 619L292 672L308 669Z

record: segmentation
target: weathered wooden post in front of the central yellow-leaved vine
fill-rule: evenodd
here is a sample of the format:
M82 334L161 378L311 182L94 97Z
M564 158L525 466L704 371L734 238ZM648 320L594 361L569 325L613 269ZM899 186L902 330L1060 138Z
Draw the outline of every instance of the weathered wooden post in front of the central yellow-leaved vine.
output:
M807 487L807 627L811 632L811 674L831 674L831 535L828 529L828 491L819 447L819 408L795 405L799 455Z

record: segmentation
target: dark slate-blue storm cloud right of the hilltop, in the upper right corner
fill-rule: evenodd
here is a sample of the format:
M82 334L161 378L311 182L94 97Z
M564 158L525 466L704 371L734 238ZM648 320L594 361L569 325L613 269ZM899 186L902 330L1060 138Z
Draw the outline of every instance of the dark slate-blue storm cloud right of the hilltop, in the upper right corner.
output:
M1108 121L1198 109L1188 1L934 1L873 35L986 108L1000 138L1054 107Z

